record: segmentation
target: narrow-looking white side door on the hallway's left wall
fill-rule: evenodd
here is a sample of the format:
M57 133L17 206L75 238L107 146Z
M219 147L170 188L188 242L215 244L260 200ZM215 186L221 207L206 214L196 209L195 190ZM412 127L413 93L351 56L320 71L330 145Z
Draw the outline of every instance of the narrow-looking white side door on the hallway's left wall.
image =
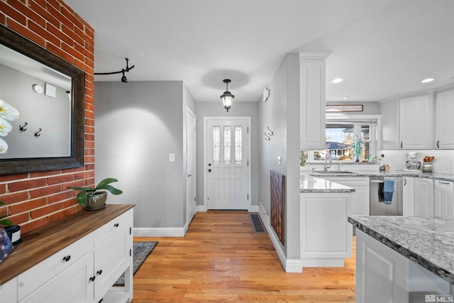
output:
M187 222L191 222L192 217L196 214L196 116L188 108L187 109L187 183L186 183L186 199L187 199Z

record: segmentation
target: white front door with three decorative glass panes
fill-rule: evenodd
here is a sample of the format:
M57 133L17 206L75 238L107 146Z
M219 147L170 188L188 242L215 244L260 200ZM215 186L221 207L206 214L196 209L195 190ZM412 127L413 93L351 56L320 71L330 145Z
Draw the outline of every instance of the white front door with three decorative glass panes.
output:
M248 209L250 118L205 119L207 209Z

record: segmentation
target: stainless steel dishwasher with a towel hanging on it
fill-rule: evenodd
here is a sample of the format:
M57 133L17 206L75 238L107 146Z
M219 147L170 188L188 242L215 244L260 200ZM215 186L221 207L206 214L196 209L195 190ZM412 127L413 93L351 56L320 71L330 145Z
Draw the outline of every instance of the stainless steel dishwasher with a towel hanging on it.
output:
M384 203L384 179L394 180L391 204ZM370 177L370 216L402 216L402 177Z

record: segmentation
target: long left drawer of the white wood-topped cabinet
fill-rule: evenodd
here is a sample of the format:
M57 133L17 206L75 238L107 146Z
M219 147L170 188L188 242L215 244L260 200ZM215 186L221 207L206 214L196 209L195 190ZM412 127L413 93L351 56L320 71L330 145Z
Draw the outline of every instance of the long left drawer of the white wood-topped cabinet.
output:
M93 250L93 242L94 233L90 233L19 275L19 301Z

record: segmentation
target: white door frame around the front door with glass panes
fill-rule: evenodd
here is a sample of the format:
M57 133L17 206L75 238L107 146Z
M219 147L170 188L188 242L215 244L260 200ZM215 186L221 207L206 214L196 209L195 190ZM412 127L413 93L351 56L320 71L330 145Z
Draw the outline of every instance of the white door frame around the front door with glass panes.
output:
M248 121L248 211L250 211L250 202L252 200L252 197L251 197L251 192L252 192L252 180L251 180L251 166L252 166L252 160L251 160L251 155L252 155L252 145L251 145L251 134L252 134L252 131L250 129L250 116L233 116L233 117L228 117L228 116L221 116L221 117L216 117L216 116L208 116L208 117L204 117L204 205L203 205L203 209L204 211L207 211L208 210L208 182L207 182L207 179L208 179L208 176L207 176L207 171L208 171L208 167L206 165L207 162L207 156L206 156L206 134L207 134L207 130L206 130L206 123L208 120L232 120L232 119L243 119L243 120L246 120Z

